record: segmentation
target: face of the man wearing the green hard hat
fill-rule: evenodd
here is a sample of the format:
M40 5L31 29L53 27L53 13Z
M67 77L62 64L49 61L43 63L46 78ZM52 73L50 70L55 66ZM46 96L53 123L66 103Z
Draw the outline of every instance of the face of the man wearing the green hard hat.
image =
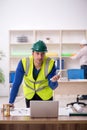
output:
M32 55L34 57L34 63L41 65L44 60L45 53L34 51L34 52L32 52Z

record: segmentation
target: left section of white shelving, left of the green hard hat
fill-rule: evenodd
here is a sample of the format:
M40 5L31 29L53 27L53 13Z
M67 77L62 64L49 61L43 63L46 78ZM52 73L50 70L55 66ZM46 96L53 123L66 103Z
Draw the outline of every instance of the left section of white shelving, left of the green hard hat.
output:
M31 55L34 42L33 30L11 30L10 33L10 71L15 71L18 61Z

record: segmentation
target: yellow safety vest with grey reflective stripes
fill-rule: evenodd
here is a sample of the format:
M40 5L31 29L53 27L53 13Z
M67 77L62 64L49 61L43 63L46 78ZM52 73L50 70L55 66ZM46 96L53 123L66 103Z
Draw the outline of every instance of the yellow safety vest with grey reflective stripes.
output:
M37 79L33 78L33 56L22 59L25 75L23 82L23 91L25 98L32 99L36 93L42 100L48 100L53 95L53 90L48 84L46 76L52 70L54 60L45 56Z

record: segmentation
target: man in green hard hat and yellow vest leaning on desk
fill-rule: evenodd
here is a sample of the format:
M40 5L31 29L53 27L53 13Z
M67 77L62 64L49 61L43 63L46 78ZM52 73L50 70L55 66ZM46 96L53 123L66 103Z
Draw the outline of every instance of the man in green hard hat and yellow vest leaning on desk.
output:
M55 61L46 57L46 52L46 44L39 40L32 46L32 56L20 60L10 92L10 106L14 106L22 80L26 107L30 107L30 100L53 99L59 76L56 75Z

